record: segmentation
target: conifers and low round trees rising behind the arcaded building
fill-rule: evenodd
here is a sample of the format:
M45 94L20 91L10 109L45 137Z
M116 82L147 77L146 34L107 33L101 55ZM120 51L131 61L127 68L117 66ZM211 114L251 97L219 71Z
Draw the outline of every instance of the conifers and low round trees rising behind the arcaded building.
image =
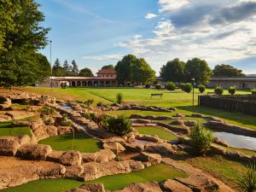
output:
M68 61L64 61L61 66L59 59L56 59L55 64L52 67L53 76L63 77L63 76L84 76L84 77L93 77L93 73L90 68L84 67L79 70L79 66L76 61L72 61L71 65L68 64Z

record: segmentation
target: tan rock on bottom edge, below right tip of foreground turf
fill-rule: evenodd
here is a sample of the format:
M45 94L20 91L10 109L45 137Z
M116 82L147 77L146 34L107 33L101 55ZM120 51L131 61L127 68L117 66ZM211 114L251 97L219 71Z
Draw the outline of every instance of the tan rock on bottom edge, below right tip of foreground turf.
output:
M189 187L172 179L167 179L162 185L169 192L193 192Z

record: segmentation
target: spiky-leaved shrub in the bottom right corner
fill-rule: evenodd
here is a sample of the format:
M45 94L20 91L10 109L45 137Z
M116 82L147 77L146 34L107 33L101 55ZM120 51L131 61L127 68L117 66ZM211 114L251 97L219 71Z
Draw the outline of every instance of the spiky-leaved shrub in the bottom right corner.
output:
M241 191L254 192L256 191L256 163L254 162L247 167L247 171L241 173L236 178L236 185Z

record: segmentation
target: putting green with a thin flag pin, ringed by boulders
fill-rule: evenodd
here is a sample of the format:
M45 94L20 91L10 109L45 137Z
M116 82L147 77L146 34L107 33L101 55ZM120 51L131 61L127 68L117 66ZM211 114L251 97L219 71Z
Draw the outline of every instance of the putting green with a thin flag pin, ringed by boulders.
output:
M84 132L75 132L67 135L48 137L41 141L40 144L48 144L55 150L79 150L80 152L94 153L101 149L99 141L89 137Z

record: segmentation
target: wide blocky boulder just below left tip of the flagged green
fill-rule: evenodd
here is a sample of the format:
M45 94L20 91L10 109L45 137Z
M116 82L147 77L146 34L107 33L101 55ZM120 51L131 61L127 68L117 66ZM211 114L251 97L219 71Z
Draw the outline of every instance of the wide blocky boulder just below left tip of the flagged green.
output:
M16 156L26 160L46 160L51 152L49 145L24 144L18 148Z

